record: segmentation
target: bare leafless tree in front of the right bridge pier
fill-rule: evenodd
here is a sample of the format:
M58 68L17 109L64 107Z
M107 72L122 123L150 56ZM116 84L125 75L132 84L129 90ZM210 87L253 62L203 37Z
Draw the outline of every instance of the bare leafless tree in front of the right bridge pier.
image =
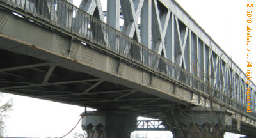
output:
M209 53L211 54L211 51ZM223 137L223 133L227 130L227 126L226 126L227 124L225 124L225 122L228 122L228 121L231 122L230 120L231 118L228 118L228 116L231 116L231 114L228 112L228 107L230 106L230 103L232 101L233 84L232 82L228 82L229 83L228 88L227 86L221 86L221 88L220 88L220 85L216 86L216 84L218 83L221 84L221 79L220 78L216 79L216 73L217 73L216 70L218 70L218 68L219 68L218 72L220 73L220 66L218 65L220 65L220 63L222 62L221 56L216 59L212 59L214 58L212 55L211 57L209 57L208 59L209 63L211 63L210 60L212 60L212 64L214 65L207 66L207 70L208 70L207 73L202 72L204 71L205 68L203 66L200 66L200 63L197 59L196 63L194 64L196 65L198 64L199 66L198 68L199 71L196 72L196 75L198 74L200 78L198 79L197 76L196 75L194 76L193 74L193 75L190 75L191 78L188 79L189 81L197 80L196 83L192 82L192 85L194 83L198 85L198 87L200 87L199 84L201 84L203 88L203 93L206 95L205 95L205 98L200 98L200 103L205 103L203 107L207 107L207 108L205 108L206 110L204 115L205 115L205 118L209 119L209 121L207 121L207 123L203 125L204 127L202 127L202 124L201 125L196 124L195 122L198 122L199 120L198 118L202 118L202 116L195 115L192 111L186 110L186 108L182 106L184 102L180 102L180 105L177 106L177 110L175 111L179 113L177 113L176 117L173 116L172 124L168 123L168 125L170 125L170 127L172 127L175 130L175 133L177 133L175 135L179 135L179 137L186 138L188 137L188 132L192 132L190 134L193 134L193 135L190 135L189 137L196 137L196 138L197 137L205 137L205 138ZM216 61L213 61L213 60L216 60ZM225 97L226 99L225 104L227 106L220 107L216 104L215 101L220 99L220 96ZM189 105L185 105L185 106L189 107ZM180 116L182 116L181 118L183 118L183 121L181 121L182 123L180 123L180 120L181 120Z

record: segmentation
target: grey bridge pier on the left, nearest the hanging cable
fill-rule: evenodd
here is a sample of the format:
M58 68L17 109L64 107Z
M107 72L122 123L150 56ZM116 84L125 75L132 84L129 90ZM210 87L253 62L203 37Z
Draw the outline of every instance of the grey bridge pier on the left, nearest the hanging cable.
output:
M129 138L136 128L134 114L91 111L82 115L82 127L88 138Z

